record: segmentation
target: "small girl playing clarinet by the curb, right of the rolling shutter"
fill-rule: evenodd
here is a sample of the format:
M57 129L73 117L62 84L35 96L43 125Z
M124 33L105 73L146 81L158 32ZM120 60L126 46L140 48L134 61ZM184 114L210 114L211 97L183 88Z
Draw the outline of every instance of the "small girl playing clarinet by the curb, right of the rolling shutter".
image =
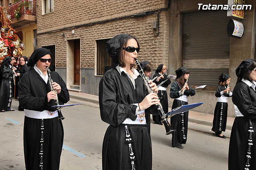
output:
M226 124L227 124L227 116L228 116L228 97L232 96L232 92L229 88L231 77L222 73L219 77L219 83L216 89L215 96L218 98L215 110L214 110L214 118L212 123L212 131L215 132L217 137L226 138L222 134L222 131L225 132Z

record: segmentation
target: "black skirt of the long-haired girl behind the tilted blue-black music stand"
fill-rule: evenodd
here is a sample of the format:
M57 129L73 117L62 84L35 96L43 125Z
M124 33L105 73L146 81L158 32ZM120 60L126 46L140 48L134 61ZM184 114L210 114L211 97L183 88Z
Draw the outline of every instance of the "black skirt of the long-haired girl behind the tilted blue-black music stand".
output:
M174 99L172 109L187 104L188 102ZM182 123L182 119L184 123ZM172 146L176 146L177 144L186 144L188 134L188 111L172 116L170 122L172 128L176 130L172 133ZM184 128L184 131L182 131L182 128Z

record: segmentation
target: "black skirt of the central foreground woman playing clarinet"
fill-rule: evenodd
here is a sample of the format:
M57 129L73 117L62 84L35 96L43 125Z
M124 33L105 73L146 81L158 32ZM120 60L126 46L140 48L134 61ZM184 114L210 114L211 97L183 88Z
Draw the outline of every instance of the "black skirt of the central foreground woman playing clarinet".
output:
M118 127L108 126L102 146L102 170L131 170L129 146L125 143L128 126L133 140L134 166L136 170L152 169L152 146L147 126L121 124Z

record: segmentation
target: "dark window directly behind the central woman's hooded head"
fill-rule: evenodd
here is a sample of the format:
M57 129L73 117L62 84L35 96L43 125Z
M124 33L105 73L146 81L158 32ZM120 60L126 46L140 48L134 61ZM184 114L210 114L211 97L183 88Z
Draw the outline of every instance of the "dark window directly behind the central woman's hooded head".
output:
M106 42L110 39L96 40L97 43L97 75L104 75L112 65L112 58L106 51Z

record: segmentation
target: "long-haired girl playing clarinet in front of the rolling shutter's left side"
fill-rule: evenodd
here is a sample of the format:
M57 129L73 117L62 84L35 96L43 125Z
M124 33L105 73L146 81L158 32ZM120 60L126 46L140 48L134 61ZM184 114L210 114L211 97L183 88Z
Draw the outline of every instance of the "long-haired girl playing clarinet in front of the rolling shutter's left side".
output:
M189 71L180 67L176 72L176 80L171 85L170 97L174 98L172 109L188 104L188 96L194 96L195 90L187 83ZM176 130L172 133L172 147L183 149L188 133L188 111L171 117L171 125Z

